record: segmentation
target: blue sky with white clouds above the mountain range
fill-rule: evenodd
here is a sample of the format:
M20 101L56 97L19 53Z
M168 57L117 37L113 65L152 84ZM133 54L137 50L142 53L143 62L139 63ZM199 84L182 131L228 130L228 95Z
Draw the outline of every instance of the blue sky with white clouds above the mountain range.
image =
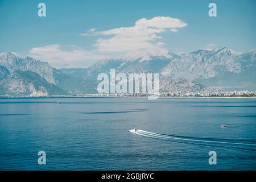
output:
M45 3L46 17L38 16ZM209 3L217 16L208 15ZM0 52L88 68L99 60L256 49L255 0L0 0Z

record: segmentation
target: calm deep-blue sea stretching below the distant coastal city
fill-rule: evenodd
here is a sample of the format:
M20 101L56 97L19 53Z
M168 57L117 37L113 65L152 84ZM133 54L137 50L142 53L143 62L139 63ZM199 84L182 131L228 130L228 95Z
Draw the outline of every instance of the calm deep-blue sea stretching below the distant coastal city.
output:
M255 170L256 99L0 98L0 169Z

